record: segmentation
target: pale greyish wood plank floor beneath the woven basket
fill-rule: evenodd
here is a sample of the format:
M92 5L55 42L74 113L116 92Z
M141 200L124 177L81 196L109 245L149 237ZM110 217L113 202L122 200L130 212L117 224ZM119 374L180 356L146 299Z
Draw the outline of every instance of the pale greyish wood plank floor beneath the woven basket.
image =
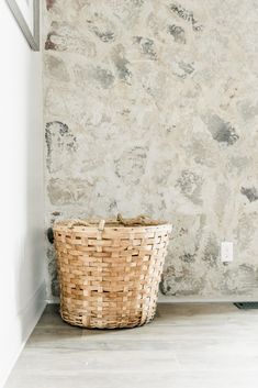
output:
M82 330L48 306L5 388L257 388L258 310L159 304L146 326Z

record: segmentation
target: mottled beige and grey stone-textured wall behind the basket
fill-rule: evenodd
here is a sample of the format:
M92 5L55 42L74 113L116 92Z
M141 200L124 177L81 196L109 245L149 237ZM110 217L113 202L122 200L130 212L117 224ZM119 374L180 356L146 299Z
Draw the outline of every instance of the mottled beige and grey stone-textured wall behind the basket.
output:
M258 297L257 1L45 5L47 224L167 219L162 292ZM235 246L228 265L223 240Z

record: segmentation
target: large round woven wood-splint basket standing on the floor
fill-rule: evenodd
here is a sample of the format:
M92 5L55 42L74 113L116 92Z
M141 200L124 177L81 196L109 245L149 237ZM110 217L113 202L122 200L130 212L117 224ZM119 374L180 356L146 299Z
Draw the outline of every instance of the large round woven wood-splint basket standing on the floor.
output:
M85 328L133 328L156 311L171 225L142 217L54 225L61 318Z

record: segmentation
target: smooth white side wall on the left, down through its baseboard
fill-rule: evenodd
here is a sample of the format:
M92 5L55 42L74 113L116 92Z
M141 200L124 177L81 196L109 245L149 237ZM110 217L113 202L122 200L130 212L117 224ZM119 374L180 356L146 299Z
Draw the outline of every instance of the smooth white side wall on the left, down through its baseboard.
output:
M45 306L41 54L0 1L0 387Z

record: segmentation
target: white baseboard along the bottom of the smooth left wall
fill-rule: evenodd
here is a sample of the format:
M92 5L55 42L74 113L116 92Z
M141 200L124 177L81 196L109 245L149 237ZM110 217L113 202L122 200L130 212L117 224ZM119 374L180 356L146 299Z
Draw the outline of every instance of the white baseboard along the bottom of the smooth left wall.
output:
M9 324L5 330L3 329L3 332L5 332L7 335L7 341L11 345L3 348L4 357L1 357L0 388L4 387L4 384L7 383L18 357L20 356L45 307L46 285L43 282L29 300L25 308L13 317L11 325Z

